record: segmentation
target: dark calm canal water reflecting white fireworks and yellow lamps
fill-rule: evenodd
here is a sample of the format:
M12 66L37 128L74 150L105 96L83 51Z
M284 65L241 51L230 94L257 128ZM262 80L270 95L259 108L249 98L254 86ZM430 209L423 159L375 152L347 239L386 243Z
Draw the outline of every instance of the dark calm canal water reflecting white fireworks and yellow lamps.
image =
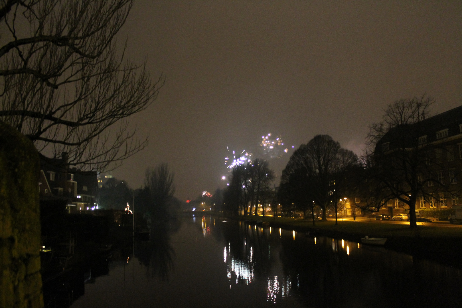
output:
M67 302L55 301L55 307L378 308L461 303L460 269L356 242L210 216L160 223L149 242L137 241L114 253L105 266L77 275L80 282L63 282L81 286L72 292L67 288ZM46 292L44 296L50 298Z

